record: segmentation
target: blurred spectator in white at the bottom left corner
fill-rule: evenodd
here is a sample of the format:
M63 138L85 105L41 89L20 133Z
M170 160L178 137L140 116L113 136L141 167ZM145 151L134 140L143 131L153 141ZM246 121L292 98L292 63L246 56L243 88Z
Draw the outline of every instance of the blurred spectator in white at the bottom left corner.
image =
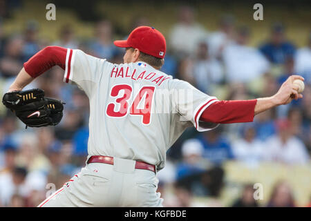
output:
M26 198L28 189L25 183L27 170L23 167L15 167L11 173L0 175L0 202L9 206L12 197L17 194Z

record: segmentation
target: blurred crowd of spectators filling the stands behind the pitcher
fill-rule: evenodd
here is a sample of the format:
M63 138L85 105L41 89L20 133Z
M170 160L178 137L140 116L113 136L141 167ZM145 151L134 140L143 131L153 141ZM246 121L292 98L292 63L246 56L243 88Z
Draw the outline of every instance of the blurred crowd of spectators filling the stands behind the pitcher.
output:
M303 99L261 113L252 123L221 125L206 133L187 129L167 152L167 166L158 173L164 206L207 206L196 204L194 196L217 199L224 185L222 165L227 160L252 166L261 162L289 166L310 162L311 33L305 46L297 48L287 39L286 27L276 22L267 27L270 36L253 47L249 46L252 28L237 26L232 15L224 15L216 31L204 28L195 15L193 8L180 7L176 23L166 36L164 73L189 81L218 99L274 95L292 74L305 78L305 91ZM146 17L138 17L129 30L141 25L152 26ZM2 94L23 62L45 46L79 48L122 63L124 50L113 45L114 26L106 19L94 23L94 36L86 40L81 40L69 24L59 30L57 41L40 39L37 21L26 21L23 32L14 35L5 35L2 28L0 22ZM0 106L0 206L37 206L48 190L60 188L85 165L88 97L76 86L65 85L63 75L62 68L54 67L25 88L42 88L46 96L66 102L58 126L25 129L14 114ZM46 184L55 186L46 189ZM167 185L173 194L167 193ZM245 184L241 198L232 205L215 201L209 206L259 206L253 193L252 184ZM290 184L277 182L265 206L296 206Z

